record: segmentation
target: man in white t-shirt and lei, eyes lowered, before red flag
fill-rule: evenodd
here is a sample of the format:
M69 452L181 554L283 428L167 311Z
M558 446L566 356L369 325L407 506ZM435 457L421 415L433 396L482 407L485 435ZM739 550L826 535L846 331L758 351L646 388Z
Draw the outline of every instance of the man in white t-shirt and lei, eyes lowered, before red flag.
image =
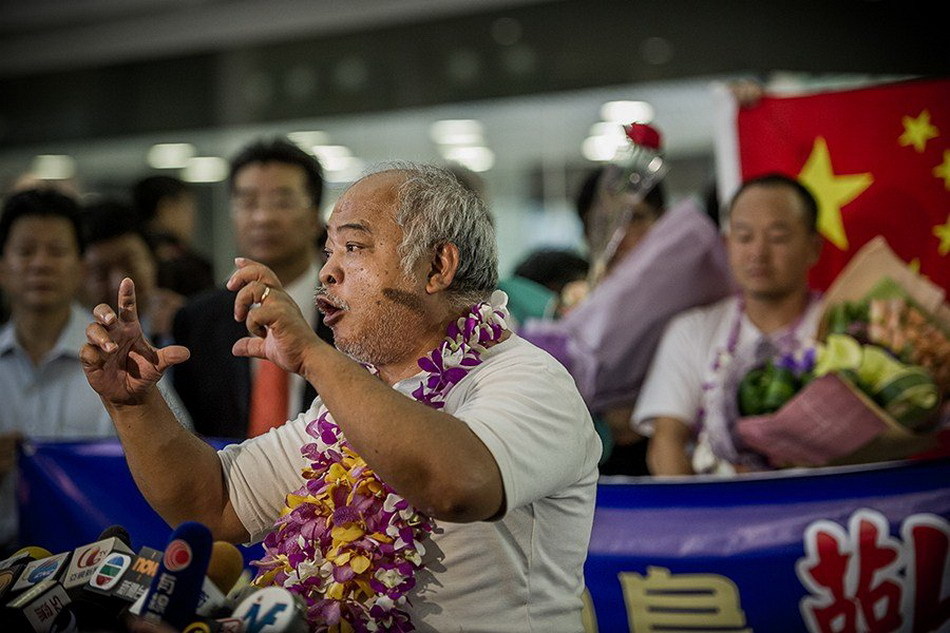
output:
M736 192L726 243L739 293L670 323L637 400L633 422L651 436L654 475L757 467L711 415L711 396L747 359L764 362L814 340L821 301L808 271L821 252L817 219L814 196L789 176L753 178Z

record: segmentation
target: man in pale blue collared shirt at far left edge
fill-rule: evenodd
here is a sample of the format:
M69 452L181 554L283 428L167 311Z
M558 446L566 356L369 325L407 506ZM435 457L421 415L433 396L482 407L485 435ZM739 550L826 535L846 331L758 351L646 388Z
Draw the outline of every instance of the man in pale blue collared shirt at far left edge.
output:
M0 550L17 546L15 450L21 436L114 435L85 380L79 348L90 313L77 302L84 243L76 201L52 189L12 194L0 216Z

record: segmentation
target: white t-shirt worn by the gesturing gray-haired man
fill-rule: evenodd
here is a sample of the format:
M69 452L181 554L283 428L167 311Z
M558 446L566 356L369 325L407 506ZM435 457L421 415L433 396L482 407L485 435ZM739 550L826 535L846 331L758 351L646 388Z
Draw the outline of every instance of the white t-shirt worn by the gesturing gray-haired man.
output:
M546 352L511 336L482 355L444 411L485 443L501 471L503 516L439 521L427 544L433 580L409 596L418 631L582 630L581 593L601 444L573 379ZM404 394L419 377L395 387ZM220 451L231 502L253 541L273 527L288 492L299 488L312 441L296 420ZM461 476L461 473L460 473ZM434 560L433 560L434 559Z

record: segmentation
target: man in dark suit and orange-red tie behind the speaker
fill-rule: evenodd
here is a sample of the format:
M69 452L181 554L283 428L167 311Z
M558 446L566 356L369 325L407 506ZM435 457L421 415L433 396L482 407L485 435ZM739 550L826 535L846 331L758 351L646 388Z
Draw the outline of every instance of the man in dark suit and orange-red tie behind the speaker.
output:
M322 263L317 244L324 232L319 162L286 139L259 140L231 161L229 186L241 255L271 268L320 337L332 343L332 332L313 302ZM274 368L265 370L262 363L267 361L231 354L247 330L234 320L234 293L225 288L189 301L175 317L172 336L191 350L191 358L172 373L195 431L202 435L258 435L305 411L316 395L293 375L283 378L283 386L261 387L262 374ZM269 410L270 421L261 421L262 409Z

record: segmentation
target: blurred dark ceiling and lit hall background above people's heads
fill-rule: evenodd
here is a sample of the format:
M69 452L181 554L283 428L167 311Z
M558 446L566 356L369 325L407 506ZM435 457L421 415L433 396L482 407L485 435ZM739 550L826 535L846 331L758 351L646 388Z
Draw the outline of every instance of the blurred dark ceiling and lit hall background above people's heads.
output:
M0 0L0 183L195 183L198 247L231 267L227 159L261 134L321 157L327 210L390 159L484 186L506 273L581 248L573 197L619 122L664 134L673 201L715 180L712 86L945 75L934 5L892 0ZM621 139L622 140L622 139Z

